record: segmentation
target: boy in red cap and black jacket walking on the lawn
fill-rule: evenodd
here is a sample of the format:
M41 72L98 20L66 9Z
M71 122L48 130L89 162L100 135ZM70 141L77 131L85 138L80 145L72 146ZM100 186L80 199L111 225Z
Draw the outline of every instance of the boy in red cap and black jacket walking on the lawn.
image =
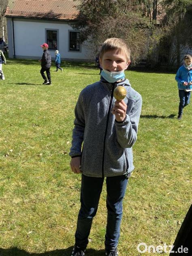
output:
M39 60L39 62L41 62L41 75L44 79L43 84L47 84L47 85L51 85L51 74L50 74L50 68L51 68L51 54L48 51L48 45L46 43L44 43L43 45L41 45L42 49L43 49L43 55L41 60ZM46 72L47 77L45 76L44 72Z

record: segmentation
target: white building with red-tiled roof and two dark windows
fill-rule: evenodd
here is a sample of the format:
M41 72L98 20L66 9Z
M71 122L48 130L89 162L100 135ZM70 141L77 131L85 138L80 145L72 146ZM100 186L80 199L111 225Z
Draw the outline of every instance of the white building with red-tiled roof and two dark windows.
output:
M9 58L38 59L47 43L51 56L58 49L63 60L90 60L91 53L69 25L78 17L73 0L9 0L6 10Z

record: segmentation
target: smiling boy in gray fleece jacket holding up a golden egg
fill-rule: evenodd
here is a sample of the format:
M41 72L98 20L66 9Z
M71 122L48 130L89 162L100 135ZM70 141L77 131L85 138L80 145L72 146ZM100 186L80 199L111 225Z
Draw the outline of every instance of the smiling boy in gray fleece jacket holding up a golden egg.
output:
M125 79L130 49L124 40L107 39L100 50L100 81L85 87L75 107L71 170L81 173L81 209L71 256L84 256L92 219L96 215L104 178L107 184L106 256L117 256L122 201L133 171L132 145L137 139L142 99ZM124 100L115 100L117 85L126 88ZM81 146L83 143L83 149Z

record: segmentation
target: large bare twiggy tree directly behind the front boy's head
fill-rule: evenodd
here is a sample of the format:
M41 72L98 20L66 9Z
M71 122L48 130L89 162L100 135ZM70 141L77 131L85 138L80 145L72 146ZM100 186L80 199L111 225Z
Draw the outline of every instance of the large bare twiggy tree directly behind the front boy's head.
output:
M82 0L73 28L80 30L81 41L89 40L95 53L105 39L123 38L131 49L132 64L146 53L151 20L143 15L139 0Z

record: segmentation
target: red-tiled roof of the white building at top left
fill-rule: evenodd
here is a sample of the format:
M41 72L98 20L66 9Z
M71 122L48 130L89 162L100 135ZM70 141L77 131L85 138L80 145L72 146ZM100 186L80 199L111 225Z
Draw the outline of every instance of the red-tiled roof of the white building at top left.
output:
M77 19L80 0L9 0L6 17L37 19Z

